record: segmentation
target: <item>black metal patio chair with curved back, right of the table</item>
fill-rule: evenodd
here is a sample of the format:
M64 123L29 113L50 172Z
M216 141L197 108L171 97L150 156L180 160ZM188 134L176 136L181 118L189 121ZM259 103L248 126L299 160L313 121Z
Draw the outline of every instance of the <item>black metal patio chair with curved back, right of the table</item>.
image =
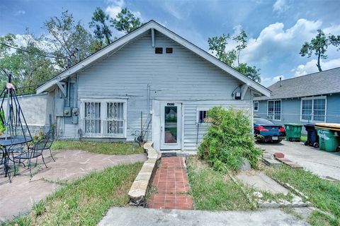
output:
M24 148L23 145L21 145L22 151L18 152L20 150L19 145L12 145L8 149L8 153L11 153L13 157L13 165L14 165L14 176L16 175L16 162L19 164L23 164L23 161L28 160L28 169L30 169L30 177L32 176L32 160L35 159L35 167L38 163L38 157L42 157L42 162L44 162L45 167L47 168L47 165L45 163L44 155L42 155L42 151L45 150L45 146L47 143L47 137L43 136L38 141L36 141L32 147ZM24 165L25 166L25 165Z

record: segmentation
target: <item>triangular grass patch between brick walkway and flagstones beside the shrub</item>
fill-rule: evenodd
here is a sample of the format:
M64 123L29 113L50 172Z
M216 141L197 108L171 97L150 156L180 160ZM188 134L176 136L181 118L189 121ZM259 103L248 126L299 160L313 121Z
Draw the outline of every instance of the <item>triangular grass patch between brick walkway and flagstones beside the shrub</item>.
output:
M237 184L197 157L188 158L188 179L196 210L251 210Z

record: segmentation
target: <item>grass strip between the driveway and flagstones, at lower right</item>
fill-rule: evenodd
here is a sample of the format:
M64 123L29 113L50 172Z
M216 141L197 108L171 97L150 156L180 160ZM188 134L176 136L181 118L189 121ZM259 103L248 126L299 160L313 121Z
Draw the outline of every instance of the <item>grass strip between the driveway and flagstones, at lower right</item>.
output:
M286 165L278 168L266 167L265 171L281 182L291 184L308 196L313 206L336 218L314 212L310 216L312 225L340 225L340 182L330 182L303 169L292 169Z

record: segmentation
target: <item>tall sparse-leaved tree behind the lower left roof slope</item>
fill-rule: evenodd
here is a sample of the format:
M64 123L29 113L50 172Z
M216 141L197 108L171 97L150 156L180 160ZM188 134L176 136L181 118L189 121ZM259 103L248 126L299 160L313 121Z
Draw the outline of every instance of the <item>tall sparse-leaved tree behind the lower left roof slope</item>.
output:
M55 16L46 20L44 28L49 33L45 37L46 44L52 49L52 55L61 69L77 64L94 50L94 37L80 21L76 23L68 11L62 12L60 18Z

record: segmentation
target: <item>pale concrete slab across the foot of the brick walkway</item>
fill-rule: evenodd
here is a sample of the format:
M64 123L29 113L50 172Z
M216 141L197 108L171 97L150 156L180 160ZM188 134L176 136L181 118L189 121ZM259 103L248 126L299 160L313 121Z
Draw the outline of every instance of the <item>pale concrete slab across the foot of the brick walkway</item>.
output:
M210 212L200 210L159 210L147 208L111 208L108 214L99 222L103 225L308 225L284 213L280 209L258 211L225 211Z

